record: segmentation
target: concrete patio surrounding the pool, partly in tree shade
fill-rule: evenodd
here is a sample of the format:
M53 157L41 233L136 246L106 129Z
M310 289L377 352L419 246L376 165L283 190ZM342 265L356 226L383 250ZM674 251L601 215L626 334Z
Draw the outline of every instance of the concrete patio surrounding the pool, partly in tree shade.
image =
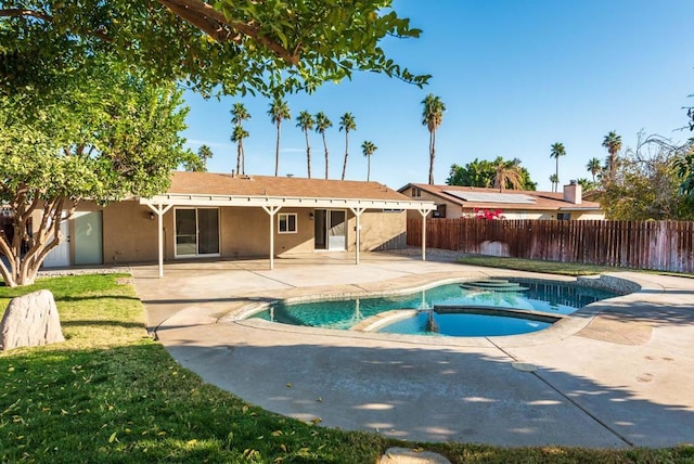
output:
M509 337L417 337L236 320L258 301L363 295L444 279L534 276L395 254L132 269L171 356L244 400L329 427L425 441L664 447L694 441L694 280L619 273L641 291ZM553 276L552 279L556 279Z

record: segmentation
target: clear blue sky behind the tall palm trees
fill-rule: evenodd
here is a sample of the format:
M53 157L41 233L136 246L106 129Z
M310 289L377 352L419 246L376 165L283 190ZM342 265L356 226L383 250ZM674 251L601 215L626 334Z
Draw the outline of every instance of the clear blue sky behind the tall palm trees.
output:
M428 131L421 124L427 93L447 106L437 132L435 182L445 183L451 164L517 157L538 190L550 190L554 173L550 145L562 142L560 179L590 178L586 164L604 159L604 136L616 130L634 147L640 130L684 141L690 132L683 106L694 105L694 2L691 0L396 0L396 11L423 29L414 40L387 39L384 48L416 74L430 74L419 89L397 79L360 73L329 82L313 94L287 98L293 119L282 126L280 175L306 177L300 111L324 112L330 178L339 179L345 152L339 117L350 112L347 178L365 180L360 145L372 141L371 178L398 189L427 182ZM246 173L274 173L275 130L264 98L202 100L191 106L183 133L196 151L215 153L208 170L231 172L230 108L243 102L252 115L244 125ZM324 177L319 133L310 133L311 173Z

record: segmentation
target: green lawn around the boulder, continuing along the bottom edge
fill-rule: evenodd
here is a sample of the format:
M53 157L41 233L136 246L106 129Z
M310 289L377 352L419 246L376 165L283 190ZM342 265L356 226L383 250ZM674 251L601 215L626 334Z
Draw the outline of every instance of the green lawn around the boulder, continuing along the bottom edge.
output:
M452 463L694 462L694 448L510 449L403 443L283 417L207 385L144 328L123 275L82 275L0 287L10 298L55 296L66 341L0 352L0 462L375 463L391 446Z

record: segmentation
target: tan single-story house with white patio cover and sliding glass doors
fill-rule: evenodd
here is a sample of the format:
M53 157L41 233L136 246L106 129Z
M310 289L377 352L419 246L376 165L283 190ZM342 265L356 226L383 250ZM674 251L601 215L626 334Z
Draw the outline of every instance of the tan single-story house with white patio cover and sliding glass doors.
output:
M44 267L401 248L408 198L377 182L174 172L167 193L81 202ZM421 216L420 216L421 217ZM361 231L357 234L357 229Z

